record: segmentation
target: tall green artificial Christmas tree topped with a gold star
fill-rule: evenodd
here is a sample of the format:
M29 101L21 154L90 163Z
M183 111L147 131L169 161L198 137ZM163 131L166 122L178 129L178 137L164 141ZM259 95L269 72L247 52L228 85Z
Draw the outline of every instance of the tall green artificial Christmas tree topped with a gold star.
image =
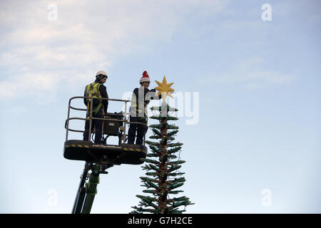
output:
M171 197L171 195L178 195L183 192L177 190L181 187L185 178L182 177L184 172L179 172L181 164L185 161L180 160L177 157L177 153L181 150L183 143L173 142L176 133L178 133L178 126L168 123L169 120L178 120L168 113L177 112L175 108L171 108L166 102L166 96L173 92L173 88L170 86L173 83L167 83L165 76L163 82L158 83L158 95L162 95L163 103L161 106L152 107L151 110L158 111L158 115L153 115L151 119L159 121L158 124L150 125L153 130L153 135L150 137L153 141L146 141L149 145L151 152L148 153L146 159L143 159L147 164L143 166L143 170L146 170L146 177L141 177L143 187L147 190L143 192L151 194L152 196L136 195L141 199L138 207L133 207L132 213L150 212L154 214L175 214L185 212L185 207L193 204L188 197ZM181 207L184 207L183 209Z

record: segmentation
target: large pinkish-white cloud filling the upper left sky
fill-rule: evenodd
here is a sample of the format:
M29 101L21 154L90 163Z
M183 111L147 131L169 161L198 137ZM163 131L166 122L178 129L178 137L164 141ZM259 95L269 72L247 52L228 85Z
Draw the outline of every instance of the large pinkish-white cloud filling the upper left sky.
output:
M0 96L54 91L61 81L74 83L71 74L88 81L121 56L170 41L191 11L215 14L224 2L1 1ZM49 4L57 6L56 21L48 19Z

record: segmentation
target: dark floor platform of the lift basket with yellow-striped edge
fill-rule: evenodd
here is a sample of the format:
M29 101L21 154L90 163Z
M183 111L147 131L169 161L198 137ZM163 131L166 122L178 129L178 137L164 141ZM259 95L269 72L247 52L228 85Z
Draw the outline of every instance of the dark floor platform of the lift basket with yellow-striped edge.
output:
M63 148L63 157L68 160L82 160L102 165L141 165L143 164L141 158L146 158L146 153L147 147L144 145L101 145L83 140L68 140Z

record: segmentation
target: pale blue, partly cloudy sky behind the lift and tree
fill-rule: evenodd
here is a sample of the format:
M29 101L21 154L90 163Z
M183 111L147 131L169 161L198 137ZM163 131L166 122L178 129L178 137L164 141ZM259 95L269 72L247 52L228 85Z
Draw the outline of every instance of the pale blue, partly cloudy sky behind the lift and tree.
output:
M71 213L84 162L63 158L68 100L103 70L109 98L143 71L174 83L187 213L320 213L320 6L0 1L0 212ZM91 212L131 212L141 166L108 172Z

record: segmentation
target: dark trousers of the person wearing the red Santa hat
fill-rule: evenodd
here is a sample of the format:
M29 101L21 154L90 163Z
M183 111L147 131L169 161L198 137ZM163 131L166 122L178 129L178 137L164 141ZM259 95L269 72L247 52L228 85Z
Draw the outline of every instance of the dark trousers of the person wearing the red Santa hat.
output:
M147 118L131 117L130 122L139 122L147 124ZM137 132L136 144L143 145L143 137L148 130L146 125L131 123L128 130L128 144L133 144Z

